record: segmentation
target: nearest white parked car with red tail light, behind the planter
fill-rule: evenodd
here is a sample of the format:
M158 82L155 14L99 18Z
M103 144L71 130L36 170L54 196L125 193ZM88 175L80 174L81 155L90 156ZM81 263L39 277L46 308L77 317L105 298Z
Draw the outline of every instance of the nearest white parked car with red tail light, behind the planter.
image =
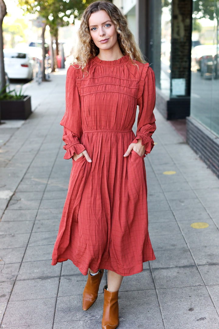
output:
M4 49L5 72L9 79L33 79L33 59L27 52Z

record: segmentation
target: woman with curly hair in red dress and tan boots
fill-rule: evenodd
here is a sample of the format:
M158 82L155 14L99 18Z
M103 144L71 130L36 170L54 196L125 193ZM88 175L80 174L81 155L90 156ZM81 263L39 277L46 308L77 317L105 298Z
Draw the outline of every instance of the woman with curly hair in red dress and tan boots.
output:
M66 78L64 159L73 159L52 265L88 273L83 310L97 299L103 269L103 329L119 324L123 276L154 260L148 235L145 154L156 129L155 78L120 10L96 1L83 13L77 64ZM137 137L132 127L139 105Z

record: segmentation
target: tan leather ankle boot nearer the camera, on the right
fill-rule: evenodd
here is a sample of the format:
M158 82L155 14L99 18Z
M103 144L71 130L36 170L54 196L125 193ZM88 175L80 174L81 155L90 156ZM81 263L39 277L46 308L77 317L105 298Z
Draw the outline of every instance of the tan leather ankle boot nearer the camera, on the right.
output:
M119 291L108 291L107 285L104 286L104 304L102 329L115 329L119 325Z

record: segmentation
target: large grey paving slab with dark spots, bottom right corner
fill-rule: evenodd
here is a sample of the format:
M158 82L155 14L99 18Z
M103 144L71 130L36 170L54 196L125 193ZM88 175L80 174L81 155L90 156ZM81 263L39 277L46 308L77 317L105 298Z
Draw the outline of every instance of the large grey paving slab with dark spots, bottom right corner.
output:
M157 292L165 329L218 329L218 314L206 287L158 289Z

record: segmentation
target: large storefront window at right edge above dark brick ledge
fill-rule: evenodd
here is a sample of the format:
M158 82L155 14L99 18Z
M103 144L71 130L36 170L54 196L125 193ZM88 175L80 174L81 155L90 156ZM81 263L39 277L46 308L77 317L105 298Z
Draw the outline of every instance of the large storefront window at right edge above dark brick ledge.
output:
M219 135L219 1L194 1L191 116Z

